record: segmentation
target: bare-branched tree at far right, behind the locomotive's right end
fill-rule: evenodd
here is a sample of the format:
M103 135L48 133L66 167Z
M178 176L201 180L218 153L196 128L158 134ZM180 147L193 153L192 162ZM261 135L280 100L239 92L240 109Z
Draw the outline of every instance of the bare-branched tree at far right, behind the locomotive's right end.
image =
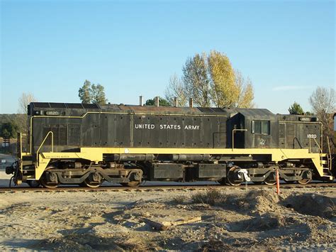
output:
M309 103L312 106L313 113L318 116L323 124L323 137L333 137L332 116L335 112L335 90L330 87L317 87L309 97Z

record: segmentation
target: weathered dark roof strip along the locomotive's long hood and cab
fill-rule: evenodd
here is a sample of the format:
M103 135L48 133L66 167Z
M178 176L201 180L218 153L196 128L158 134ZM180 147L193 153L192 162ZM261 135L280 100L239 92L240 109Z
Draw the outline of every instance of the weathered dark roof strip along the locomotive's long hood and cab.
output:
M70 109L72 111L109 111L125 113L150 113L150 114L218 114L233 115L240 113L249 117L269 117L274 116L268 109L227 109L216 107L174 107L174 106L139 106L125 104L82 104L82 103L56 103L56 102L31 102L30 107L33 109L51 110L51 109Z

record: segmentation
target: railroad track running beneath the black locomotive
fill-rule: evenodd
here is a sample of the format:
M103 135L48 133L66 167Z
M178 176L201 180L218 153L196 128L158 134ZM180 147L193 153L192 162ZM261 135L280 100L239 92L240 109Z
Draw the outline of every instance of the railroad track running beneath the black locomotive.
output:
M280 184L281 190L293 189L293 188L327 188L336 187L336 183L330 182L313 182L307 185L298 184ZM57 188L32 188L32 187L0 187L0 193L5 192L147 192L147 191L195 191L195 190L208 190L208 189L219 189L219 190L246 190L247 188L263 189L263 188L274 188L276 185L142 185L140 187L121 187L121 186L102 186L97 188L91 187L57 187Z

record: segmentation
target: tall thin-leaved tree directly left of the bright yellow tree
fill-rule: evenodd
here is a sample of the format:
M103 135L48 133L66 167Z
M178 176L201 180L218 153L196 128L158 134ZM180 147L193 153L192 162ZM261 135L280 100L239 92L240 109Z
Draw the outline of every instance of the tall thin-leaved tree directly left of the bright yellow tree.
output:
M198 53L189 57L182 68L184 88L186 94L194 99L198 106L211 106L210 78L208 76L208 65L206 54Z

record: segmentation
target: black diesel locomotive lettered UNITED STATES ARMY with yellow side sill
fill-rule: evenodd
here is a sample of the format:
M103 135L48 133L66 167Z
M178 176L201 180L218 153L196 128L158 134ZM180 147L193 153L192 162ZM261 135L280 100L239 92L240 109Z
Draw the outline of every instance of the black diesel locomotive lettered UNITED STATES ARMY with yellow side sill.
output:
M315 116L267 109L33 102L16 184L98 187L106 180L272 184L333 180Z

